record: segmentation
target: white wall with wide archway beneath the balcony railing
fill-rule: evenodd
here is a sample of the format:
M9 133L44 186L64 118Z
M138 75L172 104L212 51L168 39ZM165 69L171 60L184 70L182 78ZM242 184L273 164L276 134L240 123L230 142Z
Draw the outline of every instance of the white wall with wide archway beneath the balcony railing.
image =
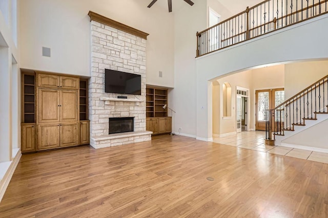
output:
M324 28L326 25L328 25L328 15L322 15L197 58L197 137L201 139L212 137L210 80L230 72L252 69L257 66L327 58L328 45L321 43L325 41L325 35L328 34L328 29ZM309 39L311 39L311 45L304 44Z

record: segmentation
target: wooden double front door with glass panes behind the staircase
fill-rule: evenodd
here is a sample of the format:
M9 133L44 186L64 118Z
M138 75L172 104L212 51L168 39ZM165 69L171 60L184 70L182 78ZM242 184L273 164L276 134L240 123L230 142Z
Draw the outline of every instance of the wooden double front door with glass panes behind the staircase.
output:
M256 94L256 130L265 130L265 121L268 119L267 110L273 109L284 101L284 90L257 90Z

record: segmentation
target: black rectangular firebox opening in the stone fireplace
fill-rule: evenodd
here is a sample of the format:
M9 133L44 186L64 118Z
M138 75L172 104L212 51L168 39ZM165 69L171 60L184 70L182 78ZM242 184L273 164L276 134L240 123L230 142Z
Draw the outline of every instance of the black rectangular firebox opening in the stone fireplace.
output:
M109 118L109 134L133 132L134 117Z

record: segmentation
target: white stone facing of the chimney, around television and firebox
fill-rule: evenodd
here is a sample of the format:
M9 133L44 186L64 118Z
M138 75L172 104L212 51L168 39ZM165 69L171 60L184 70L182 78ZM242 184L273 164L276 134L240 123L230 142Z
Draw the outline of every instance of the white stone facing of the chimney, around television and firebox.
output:
M91 21L91 39L89 119L90 144L93 146L92 137L108 136L109 117L135 117L134 131L146 130L146 40L94 20ZM141 75L141 97L125 96L143 101L100 100L100 97L116 98L119 95L105 93L105 69Z

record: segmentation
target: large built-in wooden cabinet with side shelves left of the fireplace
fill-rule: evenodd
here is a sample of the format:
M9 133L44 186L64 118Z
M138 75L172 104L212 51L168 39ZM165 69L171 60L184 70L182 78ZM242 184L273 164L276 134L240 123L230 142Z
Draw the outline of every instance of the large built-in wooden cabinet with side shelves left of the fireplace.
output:
M89 143L87 79L80 83L74 76L23 72L22 81L22 105L27 108L22 110L23 152ZM79 116L81 104L84 116Z

